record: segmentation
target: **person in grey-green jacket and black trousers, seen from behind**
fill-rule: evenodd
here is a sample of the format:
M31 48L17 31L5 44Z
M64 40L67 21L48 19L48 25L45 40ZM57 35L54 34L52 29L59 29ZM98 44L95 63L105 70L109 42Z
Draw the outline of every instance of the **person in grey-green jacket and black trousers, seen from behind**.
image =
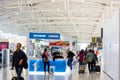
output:
M92 53L92 50L89 50L89 53L86 55L86 58L88 61L89 72L92 72L93 71L93 60L95 59L95 56Z

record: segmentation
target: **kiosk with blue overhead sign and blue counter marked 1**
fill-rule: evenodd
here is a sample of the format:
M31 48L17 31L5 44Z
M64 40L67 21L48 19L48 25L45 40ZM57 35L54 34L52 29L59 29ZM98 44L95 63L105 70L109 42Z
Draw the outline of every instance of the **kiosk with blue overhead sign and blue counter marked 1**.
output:
M54 42L54 43L53 43ZM55 45L57 43L57 45ZM41 54L44 48L50 58L50 71L55 75L65 75L69 68L66 59L53 60L52 52L54 50L61 51L62 41L58 33L29 33L29 74L44 74L44 64Z

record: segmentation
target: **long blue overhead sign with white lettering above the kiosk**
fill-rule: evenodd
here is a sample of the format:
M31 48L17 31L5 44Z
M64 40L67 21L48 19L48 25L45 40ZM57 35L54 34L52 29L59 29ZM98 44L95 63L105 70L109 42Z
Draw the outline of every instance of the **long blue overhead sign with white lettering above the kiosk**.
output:
M30 39L60 39L59 33L29 33Z

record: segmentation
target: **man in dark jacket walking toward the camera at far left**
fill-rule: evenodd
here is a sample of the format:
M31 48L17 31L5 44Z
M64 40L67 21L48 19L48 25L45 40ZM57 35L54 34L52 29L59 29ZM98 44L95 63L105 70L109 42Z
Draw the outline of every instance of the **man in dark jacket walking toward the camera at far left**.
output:
M23 70L23 61L27 61L27 57L25 55L25 53L21 50L21 43L17 43L17 50L14 52L13 54L13 62L12 62L12 68L15 67L17 76L18 76L18 80L20 80L21 78L21 73Z

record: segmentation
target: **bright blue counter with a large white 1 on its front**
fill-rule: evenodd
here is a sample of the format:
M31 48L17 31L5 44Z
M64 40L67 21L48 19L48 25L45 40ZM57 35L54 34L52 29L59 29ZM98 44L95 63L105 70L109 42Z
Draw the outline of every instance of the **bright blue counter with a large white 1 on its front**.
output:
M67 70L67 64L65 59L56 59L53 61L52 59L50 61L50 67L54 68L54 73L66 73ZM47 71L47 68L46 68ZM30 59L29 60L29 72L44 72L44 63L42 59Z

